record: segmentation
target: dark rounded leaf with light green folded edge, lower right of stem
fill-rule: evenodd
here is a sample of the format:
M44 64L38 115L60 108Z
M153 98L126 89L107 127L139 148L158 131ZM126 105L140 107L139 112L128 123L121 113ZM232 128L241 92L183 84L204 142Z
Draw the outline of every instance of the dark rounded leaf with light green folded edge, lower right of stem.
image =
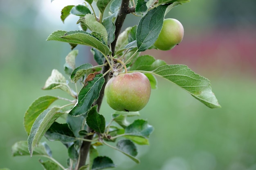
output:
M117 142L117 148L130 159L132 159L136 163L139 163L139 160L135 158L138 154L137 148L132 141L128 139L120 140Z

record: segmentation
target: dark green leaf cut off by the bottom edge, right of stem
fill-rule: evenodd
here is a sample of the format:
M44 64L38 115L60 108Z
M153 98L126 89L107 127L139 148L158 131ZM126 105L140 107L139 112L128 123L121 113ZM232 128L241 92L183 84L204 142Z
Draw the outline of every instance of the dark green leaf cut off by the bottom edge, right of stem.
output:
M97 157L93 160L92 170L103 170L106 168L115 168L115 164L109 157Z

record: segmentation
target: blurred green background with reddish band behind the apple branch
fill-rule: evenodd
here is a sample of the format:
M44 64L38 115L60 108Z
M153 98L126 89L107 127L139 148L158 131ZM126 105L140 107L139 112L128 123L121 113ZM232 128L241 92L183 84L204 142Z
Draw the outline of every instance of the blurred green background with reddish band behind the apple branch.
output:
M68 1L0 1L0 168L43 169L39 157L11 157L11 145L27 140L23 116L39 96L66 96L43 91L52 69L63 73L68 44L46 42L53 31L76 30L76 17L63 24ZM182 43L171 51L150 50L168 64L185 64L211 80L222 108L209 109L184 90L159 79L148 105L140 112L155 130L149 146L138 146L139 165L119 152L99 152L117 164L115 170L256 170L256 1L191 0L175 7L168 18L182 22ZM129 15L124 27L139 18ZM79 46L77 63L92 62ZM104 101L101 114L110 120ZM43 139L42 141L46 141ZM65 165L67 153L59 142L47 143L53 157Z

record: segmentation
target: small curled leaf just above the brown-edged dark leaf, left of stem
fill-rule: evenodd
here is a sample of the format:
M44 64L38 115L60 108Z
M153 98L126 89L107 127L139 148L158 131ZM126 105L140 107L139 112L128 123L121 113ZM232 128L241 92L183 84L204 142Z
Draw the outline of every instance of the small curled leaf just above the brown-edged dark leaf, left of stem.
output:
M86 73L92 70L92 65L90 63L85 63L76 67L70 75L71 80L76 83L81 77L84 77Z

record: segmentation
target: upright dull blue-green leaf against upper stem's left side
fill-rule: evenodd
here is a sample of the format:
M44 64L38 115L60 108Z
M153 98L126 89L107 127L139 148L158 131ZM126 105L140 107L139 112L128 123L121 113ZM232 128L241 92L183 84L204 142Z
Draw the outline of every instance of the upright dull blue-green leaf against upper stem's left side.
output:
M118 11L112 15L106 17L102 21L102 25L106 28L108 32L108 45L110 45L115 40L115 19L117 18Z

